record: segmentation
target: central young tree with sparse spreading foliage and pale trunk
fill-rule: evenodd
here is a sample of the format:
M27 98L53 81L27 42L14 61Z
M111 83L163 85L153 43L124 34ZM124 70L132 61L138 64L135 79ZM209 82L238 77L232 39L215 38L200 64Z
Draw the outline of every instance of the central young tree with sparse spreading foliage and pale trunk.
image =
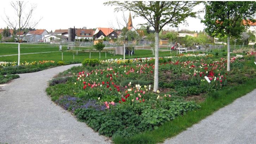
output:
M158 42L159 32L164 26L177 27L188 16L195 17L192 8L200 2L192 1L109 1L105 5L117 6L115 11L127 10L141 16L146 23L143 25L153 27L155 30L155 74L154 91L158 90Z

